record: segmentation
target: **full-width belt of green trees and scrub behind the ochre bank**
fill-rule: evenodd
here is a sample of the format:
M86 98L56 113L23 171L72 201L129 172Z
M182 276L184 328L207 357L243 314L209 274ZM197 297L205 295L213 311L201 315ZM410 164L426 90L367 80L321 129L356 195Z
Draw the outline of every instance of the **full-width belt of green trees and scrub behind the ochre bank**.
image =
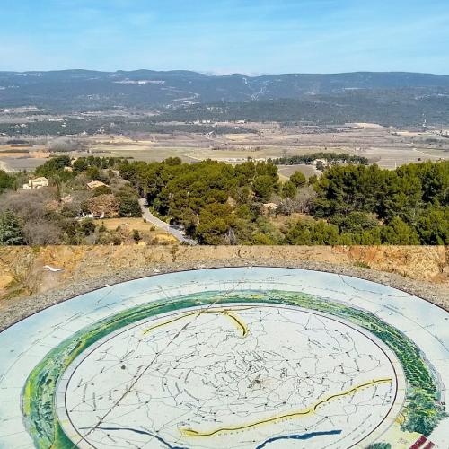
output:
M281 181L270 161L233 166L211 160L182 163L179 158L144 163L58 156L35 174L50 180L52 195L45 189L18 195L13 186L24 174L14 178L0 172L3 244L30 242L11 237L11 229L26 235L36 228L32 220L47 224L42 233L57 224L58 235L67 234L67 220L72 220L74 232L56 242L81 242L72 234L89 228L80 230L76 217L111 207L119 216L141 216L139 197L147 199L155 215L182 226L200 244L449 244L447 161L409 163L394 171L362 163L330 164L319 177L307 180L295 172ZM86 191L86 180L103 180L110 187ZM73 202L62 205L67 192ZM45 213L35 211L39 201L31 196L53 206Z

